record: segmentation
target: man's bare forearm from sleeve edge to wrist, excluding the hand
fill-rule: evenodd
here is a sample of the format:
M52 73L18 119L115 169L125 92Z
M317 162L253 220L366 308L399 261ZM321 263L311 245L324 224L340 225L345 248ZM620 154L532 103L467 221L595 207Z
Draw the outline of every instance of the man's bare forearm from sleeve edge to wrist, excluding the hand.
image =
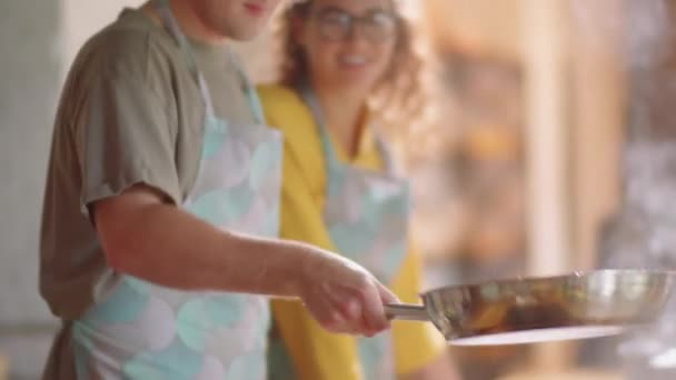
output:
M163 203L106 212L108 220L97 223L111 267L171 288L295 297L302 262L318 253L225 232Z

